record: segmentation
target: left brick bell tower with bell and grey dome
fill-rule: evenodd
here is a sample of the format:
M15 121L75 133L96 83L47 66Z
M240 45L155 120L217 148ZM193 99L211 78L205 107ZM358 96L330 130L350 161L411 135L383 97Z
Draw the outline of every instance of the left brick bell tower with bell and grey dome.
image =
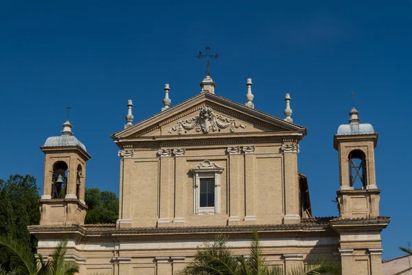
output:
M62 126L62 135L47 138L40 147L45 153L41 225L80 225L86 217L84 181L91 155L71 132L69 120Z

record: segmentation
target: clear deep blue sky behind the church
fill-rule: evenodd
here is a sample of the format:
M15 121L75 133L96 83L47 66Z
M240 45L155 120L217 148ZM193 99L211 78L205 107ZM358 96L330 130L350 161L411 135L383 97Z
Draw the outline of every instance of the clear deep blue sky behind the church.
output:
M87 2L87 3L85 3ZM210 45L216 94L308 128L299 171L314 215L336 216L333 135L347 123L354 91L361 122L379 133L376 177L383 258L412 241L412 2L396 1L1 1L0 178L30 173L43 183L47 137L60 135L71 105L73 133L93 156L87 186L119 192L117 146L132 99L135 122L199 93ZM276 3L277 2L277 3ZM316 2L316 3L314 3ZM142 3L142 1L140 1Z

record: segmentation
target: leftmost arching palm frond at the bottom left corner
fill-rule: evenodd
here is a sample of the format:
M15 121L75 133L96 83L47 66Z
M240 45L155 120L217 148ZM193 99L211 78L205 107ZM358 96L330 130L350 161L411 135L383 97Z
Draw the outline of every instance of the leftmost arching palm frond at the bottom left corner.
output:
M37 274L36 258L27 245L19 240L7 236L0 236L0 248L8 252L10 257L21 264L21 271L27 274Z

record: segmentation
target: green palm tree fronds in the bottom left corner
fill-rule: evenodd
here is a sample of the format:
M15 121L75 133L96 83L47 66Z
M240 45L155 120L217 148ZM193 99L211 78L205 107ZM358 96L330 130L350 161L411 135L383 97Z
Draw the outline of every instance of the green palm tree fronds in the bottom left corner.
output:
M79 272L77 263L65 261L67 240L58 243L51 260L44 261L39 255L40 263L37 262L32 250L27 250L26 243L21 240L0 236L0 249L19 263L18 274L21 275L73 275Z

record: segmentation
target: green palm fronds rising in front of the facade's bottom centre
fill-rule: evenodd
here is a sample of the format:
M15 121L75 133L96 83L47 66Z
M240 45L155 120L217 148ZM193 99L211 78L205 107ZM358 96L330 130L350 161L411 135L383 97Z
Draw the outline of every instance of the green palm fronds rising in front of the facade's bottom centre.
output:
M264 261L258 232L253 230L250 256L233 256L227 246L227 237L219 235L213 244L205 243L199 248L194 261L177 274L181 275L283 275L280 267L269 267ZM341 265L332 259L323 259L306 263L301 267L288 270L288 275L341 274Z

